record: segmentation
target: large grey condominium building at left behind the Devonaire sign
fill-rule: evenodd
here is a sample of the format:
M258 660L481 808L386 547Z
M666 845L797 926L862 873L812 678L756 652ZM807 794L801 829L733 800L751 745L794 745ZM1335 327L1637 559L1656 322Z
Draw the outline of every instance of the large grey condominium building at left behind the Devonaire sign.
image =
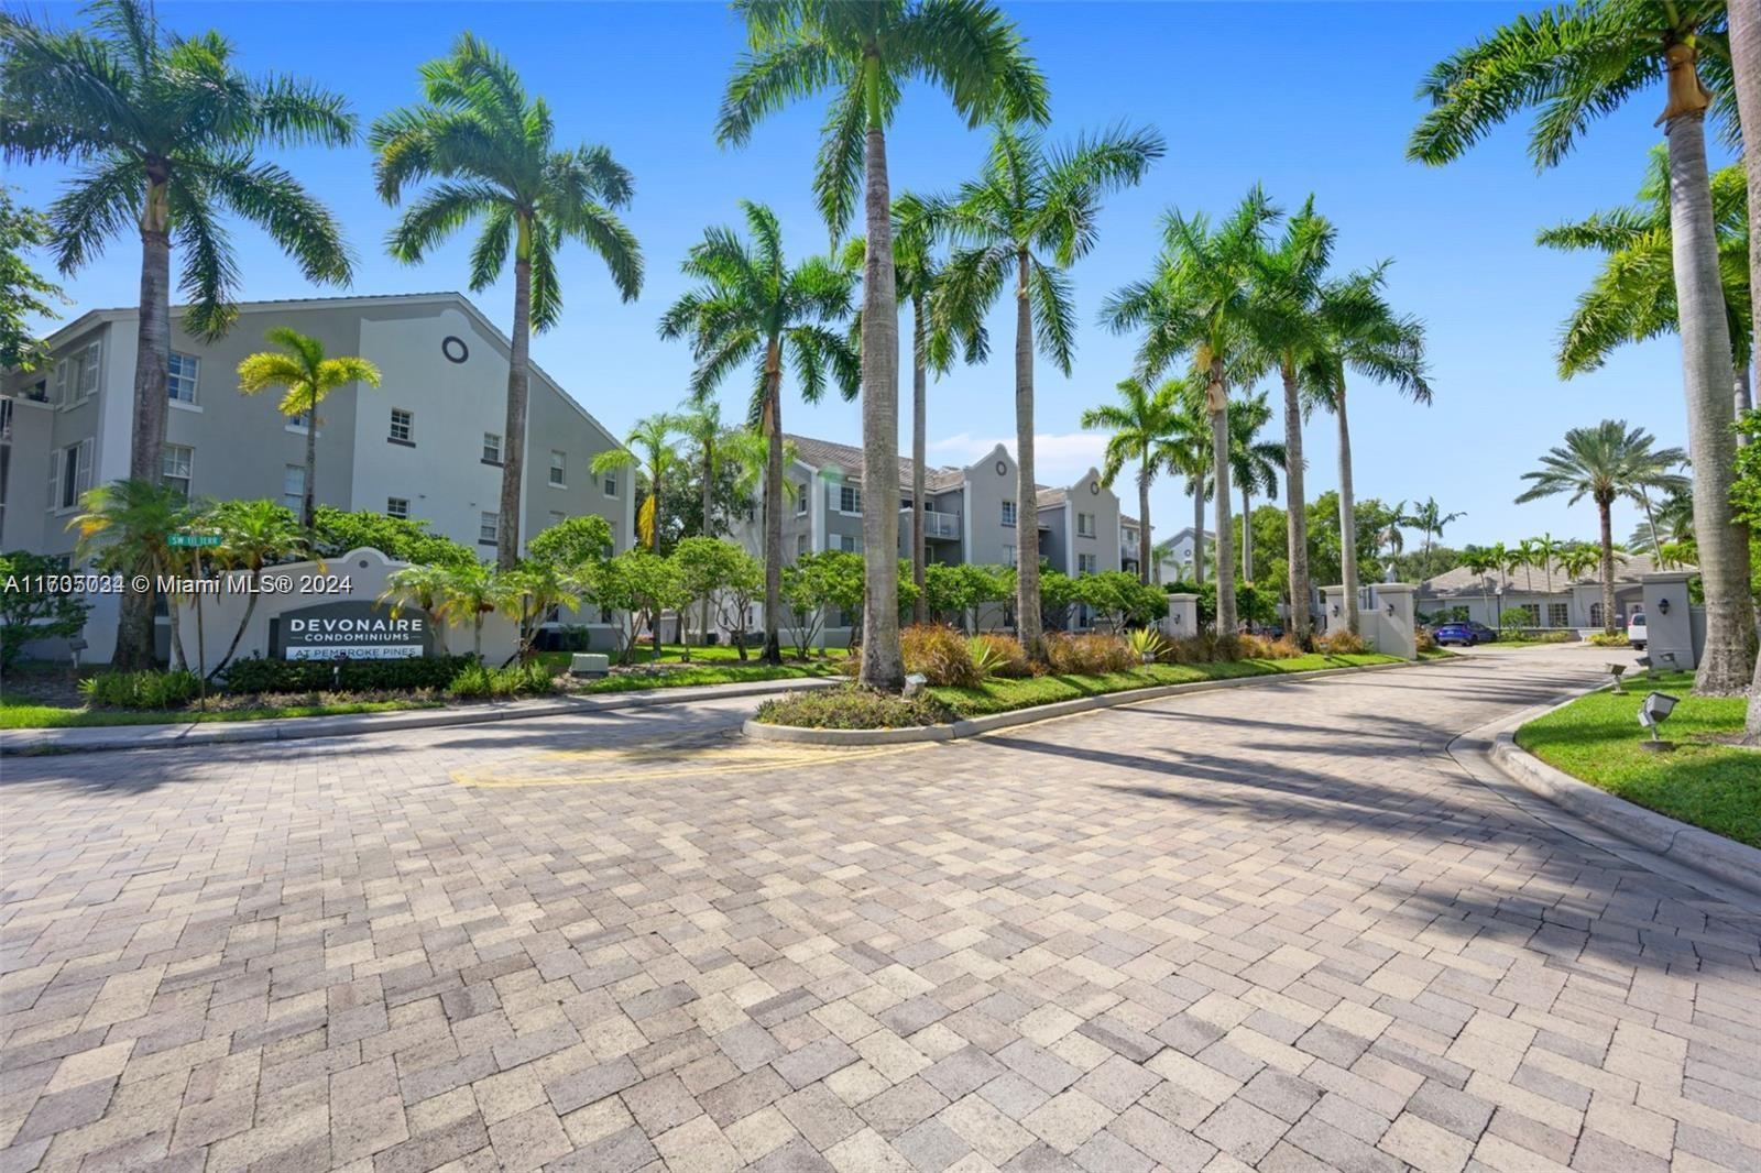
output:
M319 409L315 497L430 521L435 534L493 557L500 516L507 338L456 292L252 301L217 342L181 329L173 308L169 410L160 474L190 497L273 498L299 509L308 419L285 419L280 393L245 396L238 365L271 349L264 331L289 326L379 366L382 386L331 393ZM69 521L95 484L129 476L139 312L93 310L48 338L49 359L0 384L0 548L74 551ZM592 414L537 366L527 414L523 537L569 516L611 521L630 544L629 472L595 476L616 447ZM109 659L114 599L97 597L88 659Z

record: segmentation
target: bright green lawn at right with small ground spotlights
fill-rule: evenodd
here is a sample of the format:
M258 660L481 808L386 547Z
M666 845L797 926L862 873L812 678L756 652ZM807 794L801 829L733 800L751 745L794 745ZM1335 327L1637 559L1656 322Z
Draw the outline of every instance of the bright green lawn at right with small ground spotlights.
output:
M1761 752L1717 745L1740 733L1747 697L1696 697L1692 673L1627 678L1627 694L1592 692L1516 731L1525 750L1610 794L1682 823L1761 847ZM1661 734L1673 754L1639 749L1647 692L1682 697Z

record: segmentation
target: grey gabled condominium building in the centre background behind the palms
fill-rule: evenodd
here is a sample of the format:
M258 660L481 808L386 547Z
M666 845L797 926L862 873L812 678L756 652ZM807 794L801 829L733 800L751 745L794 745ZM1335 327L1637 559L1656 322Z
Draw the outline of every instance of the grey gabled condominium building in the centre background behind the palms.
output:
M863 449L805 435L791 435L796 460L784 470L791 483L782 518L784 557L822 550L863 550ZM900 458L898 557L910 557L910 504L914 461ZM925 557L928 562L1016 565L1016 463L998 444L965 467L923 470ZM761 490L763 491L763 490ZM1138 569L1138 520L1124 516L1118 497L1090 468L1076 484L1041 486L1039 557L1065 574ZM754 555L763 553L763 507L734 532ZM844 616L849 620L849 616ZM1087 616L1074 616L1081 623ZM828 641L849 638L847 622L828 625Z

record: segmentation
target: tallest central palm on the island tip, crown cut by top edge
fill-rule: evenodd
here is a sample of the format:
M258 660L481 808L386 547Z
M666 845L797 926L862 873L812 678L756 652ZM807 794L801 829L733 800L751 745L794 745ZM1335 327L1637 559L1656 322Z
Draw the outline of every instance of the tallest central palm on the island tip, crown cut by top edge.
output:
M863 180L863 548L898 550L898 305L886 129L907 81L942 90L972 127L993 118L1044 123L1046 81L991 0L736 0L734 11L747 21L748 51L727 83L717 139L743 146L766 114L833 90L814 176L833 241L849 225ZM859 680L900 689L898 562L868 558L863 576L870 606Z

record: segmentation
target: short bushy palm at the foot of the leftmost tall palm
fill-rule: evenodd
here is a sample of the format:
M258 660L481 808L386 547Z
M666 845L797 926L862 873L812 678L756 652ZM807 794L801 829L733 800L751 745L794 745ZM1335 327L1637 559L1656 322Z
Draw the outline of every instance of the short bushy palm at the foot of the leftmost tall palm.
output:
M79 514L67 523L77 530L74 557L106 572L136 578L146 574L157 581L160 576L174 574L183 565L183 550L171 544L171 535L185 530L203 514L199 502L185 498L183 490L153 481L114 481L86 490L79 498ZM148 618L151 618L153 592L141 595L148 601ZM178 668L183 668L183 643L178 632L178 606L173 601L166 608L171 620L171 652ZM151 653L151 632L148 632L148 652ZM146 659L151 668L157 655Z

